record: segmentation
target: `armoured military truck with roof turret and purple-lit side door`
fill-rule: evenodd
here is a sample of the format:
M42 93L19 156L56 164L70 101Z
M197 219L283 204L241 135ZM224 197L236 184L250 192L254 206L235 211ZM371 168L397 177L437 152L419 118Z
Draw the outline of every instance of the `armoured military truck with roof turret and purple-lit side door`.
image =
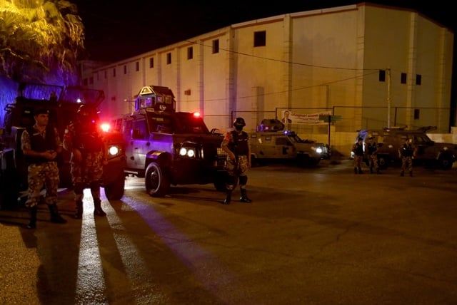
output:
M224 137L211 133L197 113L177 112L170 88L144 86L134 112L112 125L124 134L126 175L144 177L151 197L163 197L171 185L213 183L225 189Z

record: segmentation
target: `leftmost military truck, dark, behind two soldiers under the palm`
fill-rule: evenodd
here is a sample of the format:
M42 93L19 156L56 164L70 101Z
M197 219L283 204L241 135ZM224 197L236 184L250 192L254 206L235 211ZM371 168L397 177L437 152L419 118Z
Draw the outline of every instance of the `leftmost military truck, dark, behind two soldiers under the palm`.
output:
M76 118L81 105L95 108L104 100L104 92L79 86L55 86L42 83L20 83L19 95L4 107L3 126L0 128L0 207L14 208L24 200L27 190L27 165L21 150L22 132L34 125L34 110L49 109L49 125L57 128L63 140L66 125ZM109 200L119 200L124 195L124 140L120 133L104 133L108 164L104 165L104 187ZM61 188L71 187L70 153L59 154Z

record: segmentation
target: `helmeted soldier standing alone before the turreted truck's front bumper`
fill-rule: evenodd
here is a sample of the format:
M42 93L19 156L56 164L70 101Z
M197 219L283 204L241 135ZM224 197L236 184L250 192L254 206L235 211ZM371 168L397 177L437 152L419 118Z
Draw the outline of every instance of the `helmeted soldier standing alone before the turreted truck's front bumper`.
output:
M246 126L244 119L236 118L233 122L235 130L226 133L221 143L221 148L228 154L226 170L229 177L227 181L227 195L224 200L225 205L229 205L231 202L231 192L235 188L237 177L241 191L240 201L252 201L246 195L246 183L248 182L246 172L251 167L251 145L249 143L249 135L243 131L244 126Z

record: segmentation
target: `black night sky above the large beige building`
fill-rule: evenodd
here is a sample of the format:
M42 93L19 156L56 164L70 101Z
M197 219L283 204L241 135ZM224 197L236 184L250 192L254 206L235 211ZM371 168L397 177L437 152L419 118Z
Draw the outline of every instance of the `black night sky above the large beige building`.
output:
M119 61L171 43L199 36L231 24L270 16L358 4L363 1L71 1L79 8L86 28L87 56ZM206 4L199 4L207 2ZM266 3L268 2L268 3ZM421 3L419 3L421 2ZM448 1L446 1L448 2ZM415 9L455 31L457 18L445 1L371 1Z

